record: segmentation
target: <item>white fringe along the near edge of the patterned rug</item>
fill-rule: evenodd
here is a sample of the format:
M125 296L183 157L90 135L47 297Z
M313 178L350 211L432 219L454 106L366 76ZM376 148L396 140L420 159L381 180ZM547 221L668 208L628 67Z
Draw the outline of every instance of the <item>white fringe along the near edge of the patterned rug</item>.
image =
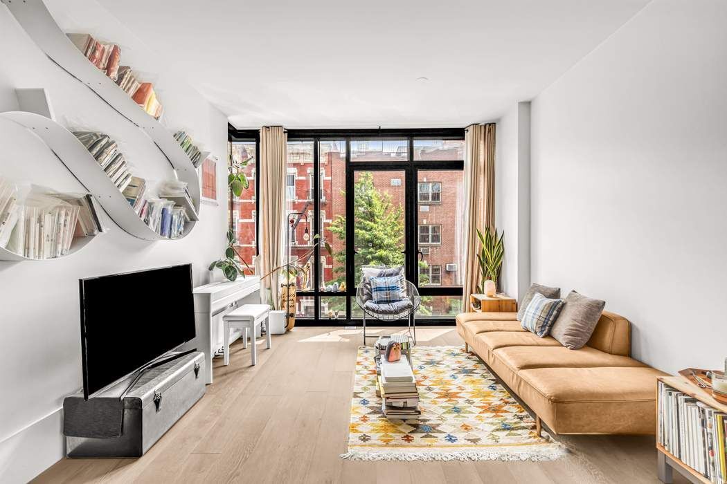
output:
M352 461L531 461L543 462L561 459L569 454L563 446L552 448L538 448L537 450L514 451L513 449L502 449L495 451L471 450L471 451L368 451L356 450L340 454L341 459Z

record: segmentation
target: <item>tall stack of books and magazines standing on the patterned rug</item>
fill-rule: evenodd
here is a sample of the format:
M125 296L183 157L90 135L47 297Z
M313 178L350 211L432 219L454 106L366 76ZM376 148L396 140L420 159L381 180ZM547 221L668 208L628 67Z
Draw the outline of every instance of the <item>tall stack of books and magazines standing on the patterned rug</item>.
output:
M399 361L381 360L381 375L378 377L381 393L381 409L387 419L418 420L419 391L414 372L406 356Z

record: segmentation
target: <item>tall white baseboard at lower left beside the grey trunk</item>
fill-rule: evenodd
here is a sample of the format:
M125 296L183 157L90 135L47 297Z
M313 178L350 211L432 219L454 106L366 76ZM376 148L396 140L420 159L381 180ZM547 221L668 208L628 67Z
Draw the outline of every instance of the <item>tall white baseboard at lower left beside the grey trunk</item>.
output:
M27 483L63 459L63 410L0 442L0 483Z

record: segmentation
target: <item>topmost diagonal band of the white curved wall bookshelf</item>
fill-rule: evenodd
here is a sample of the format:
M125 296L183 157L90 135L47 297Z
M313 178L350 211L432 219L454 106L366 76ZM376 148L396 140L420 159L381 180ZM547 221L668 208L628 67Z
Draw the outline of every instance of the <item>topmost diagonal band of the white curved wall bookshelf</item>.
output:
M199 213L200 184L198 173L174 134L148 115L73 45L42 0L1 0L17 22L47 56L74 78L86 84L116 112L134 123L156 144L178 179L187 182L194 209ZM73 170L72 170L73 171ZM190 223L190 228L193 223ZM185 232L187 229L185 229ZM138 236L137 236L138 237ZM142 237L145 238L145 237Z

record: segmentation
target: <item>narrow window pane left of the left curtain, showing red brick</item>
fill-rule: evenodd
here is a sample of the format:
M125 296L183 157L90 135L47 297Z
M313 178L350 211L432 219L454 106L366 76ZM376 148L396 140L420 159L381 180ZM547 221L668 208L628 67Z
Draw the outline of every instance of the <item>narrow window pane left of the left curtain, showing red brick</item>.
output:
M233 229L237 244L235 249L241 258L253 266L255 259L255 237L257 234L257 221L255 218L255 142L233 141L230 143L231 163L237 172L245 173L249 181L249 188L243 190L240 197L232 197L232 219L230 227ZM243 163L247 163L242 166Z

